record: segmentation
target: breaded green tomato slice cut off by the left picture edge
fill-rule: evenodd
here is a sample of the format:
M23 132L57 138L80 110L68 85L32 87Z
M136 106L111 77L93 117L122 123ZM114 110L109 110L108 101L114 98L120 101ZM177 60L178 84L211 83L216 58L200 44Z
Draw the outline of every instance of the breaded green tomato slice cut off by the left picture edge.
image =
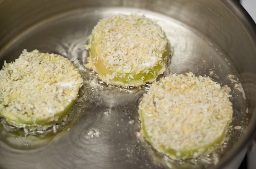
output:
M66 119L82 82L67 58L25 49L0 70L0 116L16 127L46 129Z

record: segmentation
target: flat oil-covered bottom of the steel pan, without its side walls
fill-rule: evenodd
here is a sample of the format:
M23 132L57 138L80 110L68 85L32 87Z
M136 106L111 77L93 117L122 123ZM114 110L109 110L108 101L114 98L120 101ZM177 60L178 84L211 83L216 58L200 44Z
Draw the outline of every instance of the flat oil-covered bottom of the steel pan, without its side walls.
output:
M83 67L84 45L97 22L114 14L144 14L156 20L171 44L163 76L193 72L227 85L233 119L224 144L212 154L196 159L172 160L157 153L140 135L138 105L147 86L119 89L105 86ZM143 9L91 8L70 11L27 29L1 51L0 64L14 61L23 49L60 54L80 67L84 86L70 112L70 121L55 134L16 134L1 120L1 168L208 168L218 163L243 135L250 120L237 70L211 39L174 18ZM92 81L96 82L92 85ZM7 128L7 129L4 129ZM9 129L9 132L8 132ZM16 160L18 159L18 160Z

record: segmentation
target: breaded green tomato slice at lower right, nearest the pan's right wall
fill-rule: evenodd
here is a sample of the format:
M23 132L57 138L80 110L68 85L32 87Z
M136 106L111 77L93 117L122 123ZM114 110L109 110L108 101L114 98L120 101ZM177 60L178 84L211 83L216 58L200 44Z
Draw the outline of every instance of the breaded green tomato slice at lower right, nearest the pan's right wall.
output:
M229 95L209 77L172 74L140 102L142 134L172 159L195 158L224 142L233 110Z

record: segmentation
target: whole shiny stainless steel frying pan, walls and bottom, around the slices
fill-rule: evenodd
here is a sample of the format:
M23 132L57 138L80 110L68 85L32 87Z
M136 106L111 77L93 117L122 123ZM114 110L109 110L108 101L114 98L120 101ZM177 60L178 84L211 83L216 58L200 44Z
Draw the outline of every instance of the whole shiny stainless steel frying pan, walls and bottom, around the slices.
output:
M15 2L15 1L13 1ZM90 86L95 74L83 69L85 83L67 124L57 133L26 135L0 129L0 168L236 168L256 129L256 26L233 1L195 0L26 0L0 1L0 64L23 49L87 57L87 43L99 19L142 13L157 20L170 40L169 73L208 75L232 89L233 122L214 155L174 161L158 154L140 136L137 106L147 90ZM233 79L227 78L233 74ZM88 82L88 83L87 83ZM241 84L240 92L235 84ZM244 99L246 97L246 100ZM241 126L241 129L239 127ZM7 129L8 130L8 129ZM218 157L219 160L215 160ZM215 166L213 163L217 163Z

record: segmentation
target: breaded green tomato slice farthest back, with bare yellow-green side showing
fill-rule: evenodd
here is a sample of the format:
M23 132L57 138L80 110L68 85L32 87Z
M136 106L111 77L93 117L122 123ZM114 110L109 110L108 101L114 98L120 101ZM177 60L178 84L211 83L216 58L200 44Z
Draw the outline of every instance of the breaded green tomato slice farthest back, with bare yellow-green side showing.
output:
M89 66L104 82L140 86L166 70L169 42L153 20L137 14L101 20L90 35Z

